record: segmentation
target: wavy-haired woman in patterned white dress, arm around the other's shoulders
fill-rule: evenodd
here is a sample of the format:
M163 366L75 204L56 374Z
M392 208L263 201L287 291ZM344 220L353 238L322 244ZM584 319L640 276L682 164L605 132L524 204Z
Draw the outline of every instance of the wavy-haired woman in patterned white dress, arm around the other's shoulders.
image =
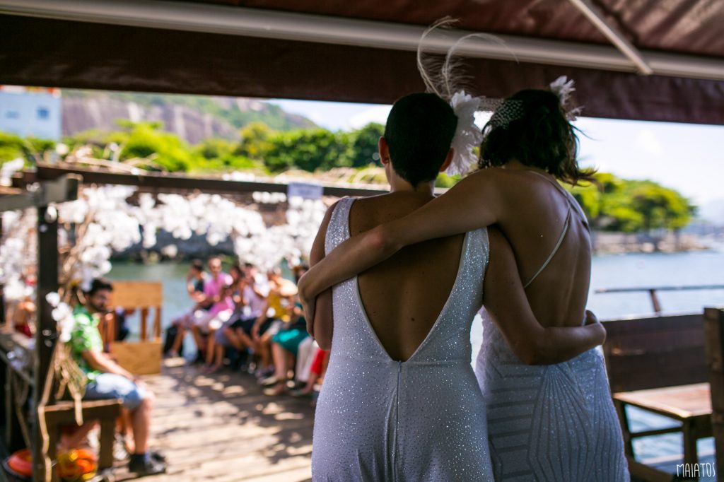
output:
M496 224L527 282L535 318L548 328L581 326L591 273L590 234L575 200L557 182L576 183L592 172L578 168L578 140L565 100L548 90L524 90L502 103L484 129L481 167L486 169L417 211L327 253L300 280L308 316L316 295L404 246ZM542 360L521 347L535 346L540 334L510 330L501 319L508 308L487 305L491 315L478 376L489 406L497 482L628 480L599 352L559 365L529 366Z

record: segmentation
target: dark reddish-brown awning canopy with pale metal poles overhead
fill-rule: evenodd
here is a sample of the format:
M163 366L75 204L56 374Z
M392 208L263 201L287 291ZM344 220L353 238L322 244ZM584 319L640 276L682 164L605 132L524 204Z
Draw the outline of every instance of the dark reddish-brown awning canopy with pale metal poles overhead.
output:
M505 41L463 44L475 93L568 75L586 116L724 124L720 0L0 0L0 83L392 103L446 15L432 50Z

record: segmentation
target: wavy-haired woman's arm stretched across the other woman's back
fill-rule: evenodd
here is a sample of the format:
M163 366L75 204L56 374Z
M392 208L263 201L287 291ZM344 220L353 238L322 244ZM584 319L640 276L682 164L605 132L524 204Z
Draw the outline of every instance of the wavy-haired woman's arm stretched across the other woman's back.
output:
M390 258L404 246L496 222L502 203L500 188L491 174L471 174L417 211L342 242L300 279L305 313L312 315L313 297Z

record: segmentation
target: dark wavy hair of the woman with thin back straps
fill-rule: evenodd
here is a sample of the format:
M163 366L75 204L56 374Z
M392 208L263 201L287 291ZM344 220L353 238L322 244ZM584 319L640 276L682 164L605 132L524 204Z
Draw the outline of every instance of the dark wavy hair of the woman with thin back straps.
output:
M595 169L578 167L578 129L568 121L555 93L520 90L505 99L503 105L508 102L518 103L522 111L507 124L496 122L495 117L485 124L480 169L518 159L526 166L544 169L556 179L573 185L594 179Z

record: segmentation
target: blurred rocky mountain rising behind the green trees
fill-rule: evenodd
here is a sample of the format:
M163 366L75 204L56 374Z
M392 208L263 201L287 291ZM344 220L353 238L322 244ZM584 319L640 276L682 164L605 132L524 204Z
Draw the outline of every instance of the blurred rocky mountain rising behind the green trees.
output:
M64 89L62 99L63 135L118 130L119 119L162 122L164 130L191 144L205 138L237 139L239 129L250 122L264 122L274 130L316 127L306 117L253 98Z

